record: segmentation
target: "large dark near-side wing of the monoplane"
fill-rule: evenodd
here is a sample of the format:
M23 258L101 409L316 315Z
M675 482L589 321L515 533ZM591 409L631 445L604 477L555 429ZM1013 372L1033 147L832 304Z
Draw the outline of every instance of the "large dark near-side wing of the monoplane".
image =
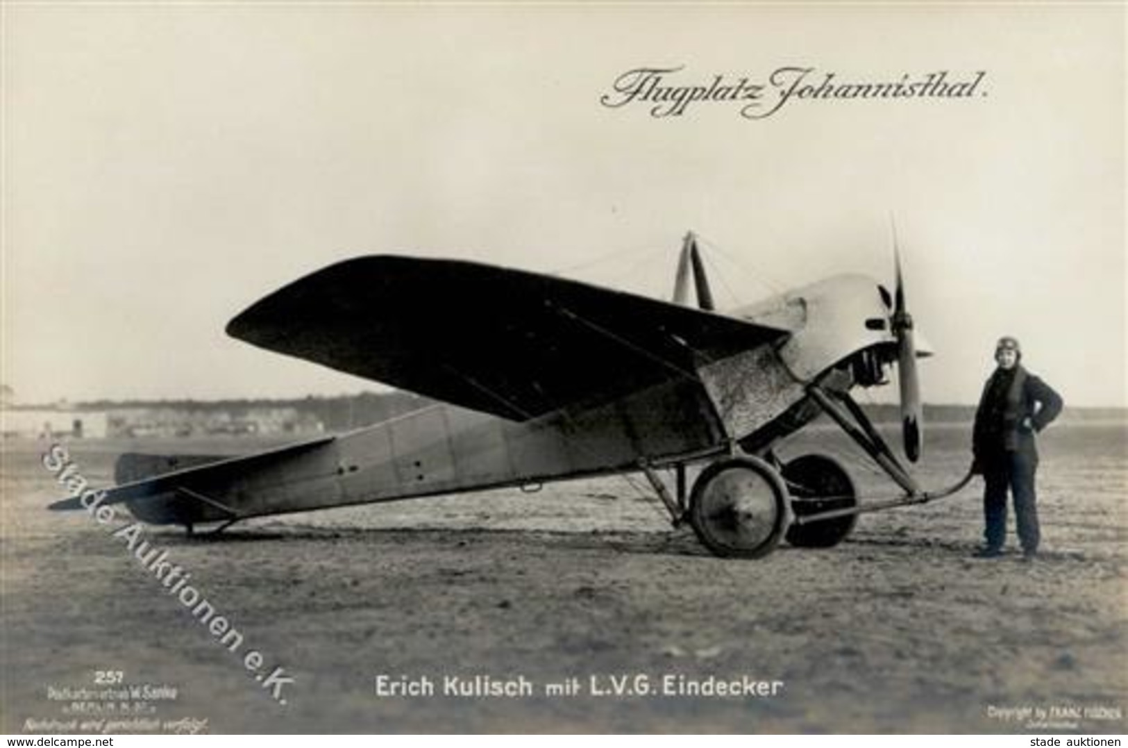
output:
M523 421L609 401L787 331L479 263L367 256L232 319L232 337Z

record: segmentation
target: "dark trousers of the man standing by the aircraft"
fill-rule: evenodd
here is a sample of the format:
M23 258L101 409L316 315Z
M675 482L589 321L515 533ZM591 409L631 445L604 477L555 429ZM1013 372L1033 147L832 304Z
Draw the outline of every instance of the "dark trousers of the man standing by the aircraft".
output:
M1034 495L1037 469L1037 458L1021 451L995 456L984 467L984 519L987 525L984 537L987 547L1002 548L1006 542L1006 492L1010 489L1014 496L1014 518L1022 549L1028 553L1038 551L1038 507Z

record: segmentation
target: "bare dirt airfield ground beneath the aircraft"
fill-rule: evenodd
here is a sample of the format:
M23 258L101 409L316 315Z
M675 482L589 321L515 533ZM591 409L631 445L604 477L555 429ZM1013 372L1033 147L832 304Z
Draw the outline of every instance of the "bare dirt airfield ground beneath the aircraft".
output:
M933 425L926 439L917 474L927 487L953 483L967 424ZM52 720L211 732L1125 731L1122 423L1059 423L1042 438L1046 553L1032 565L970 557L978 482L865 516L837 548L784 545L751 562L712 557L691 530L671 530L641 476L271 518L219 539L149 528L245 636L238 655L121 539L85 513L45 511L64 495L39 464L46 446L5 443L5 732L59 731L44 727ZM261 443L69 448L105 484L121 451L217 446ZM856 454L825 429L784 451L819 446ZM866 495L891 495L848 467ZM287 705L245 670L252 648L294 678ZM150 689L83 706L98 696L81 689L112 688L116 671L121 685L170 686L175 697ZM381 674L426 676L440 693L381 697ZM474 675L523 676L535 693L442 695L444 676ZM613 675L642 676L652 693L591 693L592 677L611 690ZM785 685L774 697L654 693L666 675ZM571 677L578 695L544 693Z

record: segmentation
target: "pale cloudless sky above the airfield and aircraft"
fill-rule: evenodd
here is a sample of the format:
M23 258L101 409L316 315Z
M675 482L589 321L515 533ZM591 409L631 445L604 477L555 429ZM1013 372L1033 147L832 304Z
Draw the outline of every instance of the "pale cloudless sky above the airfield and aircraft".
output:
M1128 404L1122 5L2 7L0 378L18 402L370 388L223 334L351 256L668 298L693 229L732 306L890 280L892 214L936 351L927 402L975 402L1011 334L1068 404ZM986 76L967 99L763 120L600 104L647 65L684 65L671 85Z

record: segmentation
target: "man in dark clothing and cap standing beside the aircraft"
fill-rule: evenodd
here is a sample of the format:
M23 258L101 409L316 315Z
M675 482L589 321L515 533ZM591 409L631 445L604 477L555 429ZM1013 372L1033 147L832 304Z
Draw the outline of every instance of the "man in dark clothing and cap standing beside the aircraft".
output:
M1023 558L1038 554L1038 508L1034 472L1038 448L1034 434L1061 411L1061 398L1020 363L1022 350L1013 337L1001 337L995 346L998 367L987 380L972 435L976 472L984 476L986 545L976 554L1003 555L1006 540L1006 492L1014 495L1014 516Z

